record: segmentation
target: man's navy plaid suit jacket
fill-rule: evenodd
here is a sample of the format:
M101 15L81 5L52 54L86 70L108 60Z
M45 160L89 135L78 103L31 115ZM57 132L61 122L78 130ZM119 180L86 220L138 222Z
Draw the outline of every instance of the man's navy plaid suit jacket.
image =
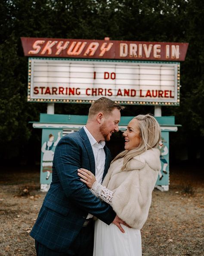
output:
M103 178L111 162L110 151L106 146L104 150L106 159ZM80 181L77 175L79 168L95 174L93 150L83 128L65 135L56 146L52 183L31 230L31 237L59 252L68 250L88 213L108 225L116 216L110 205L96 198Z

